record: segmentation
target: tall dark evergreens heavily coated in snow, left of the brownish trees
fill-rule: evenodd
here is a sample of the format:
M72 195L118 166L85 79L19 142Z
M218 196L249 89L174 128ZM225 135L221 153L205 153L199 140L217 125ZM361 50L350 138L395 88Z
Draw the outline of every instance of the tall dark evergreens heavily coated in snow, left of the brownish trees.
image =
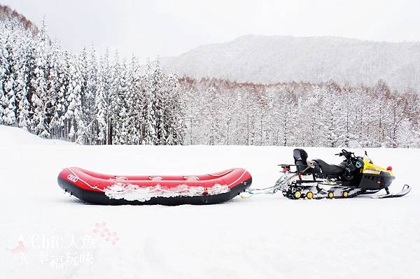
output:
M0 124L79 144L183 143L179 79L159 61L62 50L45 24L0 22ZM112 60L112 61L111 61Z

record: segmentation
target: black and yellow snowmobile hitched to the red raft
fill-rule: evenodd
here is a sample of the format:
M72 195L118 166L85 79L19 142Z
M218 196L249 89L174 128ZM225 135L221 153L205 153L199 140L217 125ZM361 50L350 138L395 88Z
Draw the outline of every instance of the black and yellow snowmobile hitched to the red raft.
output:
M404 185L398 193L389 192L388 187L395 179L392 167L384 169L375 165L366 151L363 157L345 149L336 155L344 157L338 165L321 159L309 161L306 151L293 150L295 164L279 165L283 176L272 187L273 193L280 190L288 199L337 199L375 194L384 189L386 194L371 196L382 199L404 196L411 190L409 185Z

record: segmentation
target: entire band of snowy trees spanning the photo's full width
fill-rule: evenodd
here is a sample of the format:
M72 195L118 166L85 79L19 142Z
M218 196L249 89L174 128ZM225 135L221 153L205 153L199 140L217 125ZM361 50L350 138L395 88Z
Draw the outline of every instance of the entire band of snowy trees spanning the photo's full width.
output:
M79 144L419 147L415 90L179 78L0 20L0 124Z

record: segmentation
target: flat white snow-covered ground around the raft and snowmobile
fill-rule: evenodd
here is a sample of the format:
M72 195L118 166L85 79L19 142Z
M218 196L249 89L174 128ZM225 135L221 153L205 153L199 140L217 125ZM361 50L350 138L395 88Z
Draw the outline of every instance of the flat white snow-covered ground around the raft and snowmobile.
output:
M0 278L417 278L420 150L371 149L412 192L400 199L214 206L94 206L64 194L66 166L116 174L200 174L240 166L273 185L293 148L78 146L0 126ZM307 148L338 163L338 148ZM102 235L101 235L102 234ZM19 241L21 244L19 245Z

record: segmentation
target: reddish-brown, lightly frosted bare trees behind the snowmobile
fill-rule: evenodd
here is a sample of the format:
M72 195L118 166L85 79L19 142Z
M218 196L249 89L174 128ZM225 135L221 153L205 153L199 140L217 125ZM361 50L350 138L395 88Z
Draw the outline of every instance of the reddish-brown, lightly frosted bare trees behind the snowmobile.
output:
M344 147L420 146L414 90L326 83L255 85L181 79L186 144Z

